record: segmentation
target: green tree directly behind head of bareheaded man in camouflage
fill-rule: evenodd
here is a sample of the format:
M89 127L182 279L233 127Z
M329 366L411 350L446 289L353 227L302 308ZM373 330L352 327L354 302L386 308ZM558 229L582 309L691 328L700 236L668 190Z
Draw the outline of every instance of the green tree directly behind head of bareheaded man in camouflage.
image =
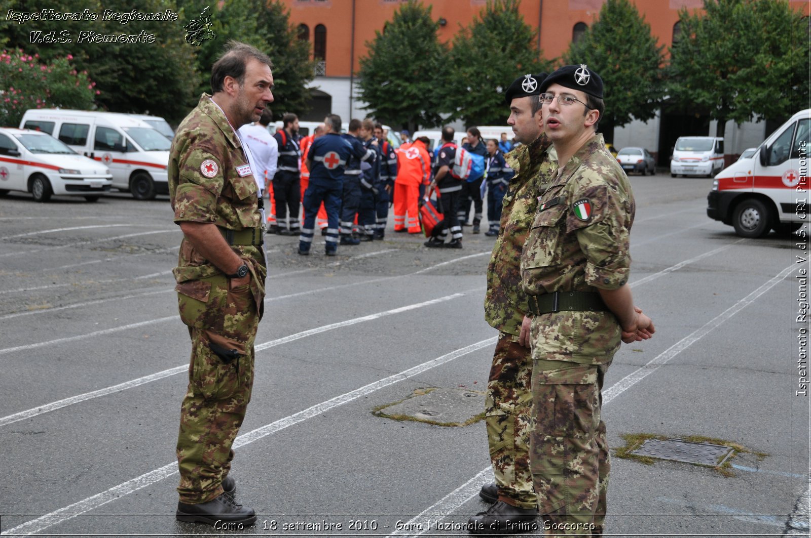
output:
M183 12L187 19L195 19L206 6L213 11L212 30L217 38L195 46L200 72L197 95L211 92L211 66L233 39L255 46L272 60L273 117L281 119L285 112L299 116L307 112L307 84L315 78L315 62L310 59L310 44L299 41L296 28L290 24L290 10L279 0L225 0L222 4L188 2Z

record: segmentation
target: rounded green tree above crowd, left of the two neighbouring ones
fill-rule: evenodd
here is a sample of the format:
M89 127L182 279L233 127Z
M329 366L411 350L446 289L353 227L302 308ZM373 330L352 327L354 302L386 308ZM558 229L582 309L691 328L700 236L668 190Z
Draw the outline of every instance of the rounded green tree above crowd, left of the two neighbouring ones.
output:
M444 74L446 47L437 40L438 28L431 6L409 0L384 32L375 31L375 39L367 41L358 87L371 115L412 132L417 126L440 124L442 100L436 80Z

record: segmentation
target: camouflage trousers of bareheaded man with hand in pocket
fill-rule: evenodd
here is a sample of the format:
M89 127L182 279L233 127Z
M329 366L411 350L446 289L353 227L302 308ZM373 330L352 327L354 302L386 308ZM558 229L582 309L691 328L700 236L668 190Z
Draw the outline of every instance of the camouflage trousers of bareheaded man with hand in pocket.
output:
M255 281L255 269L251 284L233 289L224 275L178 284L180 317L191 335L177 446L180 502L218 497L234 459L231 445L251 400L257 301L264 295L264 275Z

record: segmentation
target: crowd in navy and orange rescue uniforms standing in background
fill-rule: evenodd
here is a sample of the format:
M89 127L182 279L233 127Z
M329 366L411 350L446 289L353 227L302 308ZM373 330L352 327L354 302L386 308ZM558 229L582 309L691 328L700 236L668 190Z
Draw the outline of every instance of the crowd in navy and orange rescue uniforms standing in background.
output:
M443 219L425 246L461 248L464 226L472 226L472 233L481 232L485 203L489 223L485 235L498 235L502 199L513 177L513 170L504 160L504 154L514 147L506 132L501 133L500 140L484 140L477 127L467 129L461 148L481 156L484 167L483 173L461 179L453 173L458 148L452 127L444 127L443 136L449 138L443 138L434 148L430 139L412 140L410 132L402 130L401 145L395 149L380 123L353 119L346 132L341 133L340 117L336 125L330 125L329 118L336 117L331 114L311 134L300 136L298 117L285 113L281 129L270 134L272 114L265 109L259 122L240 129L257 161L259 175L264 177L269 202L268 233L298 236L300 254L309 254L315 228L328 237L328 244L359 245L384 239L389 208L393 207L395 233L421 234L419 208L430 200L442 212ZM326 154L311 155L315 140L326 134L336 137L333 142L341 139L341 143L328 144L328 152L335 152L337 160ZM351 151L341 159L337 150L347 145ZM311 188L313 165L318 169L317 175L324 176L321 182L334 183L329 196L319 194L316 186ZM310 204L308 189L312 194ZM313 201L316 198L320 200L318 204ZM307 220L308 213L312 213L313 224L302 226L300 222ZM334 226L329 223L331 213L337 219ZM328 249L328 254L333 252Z

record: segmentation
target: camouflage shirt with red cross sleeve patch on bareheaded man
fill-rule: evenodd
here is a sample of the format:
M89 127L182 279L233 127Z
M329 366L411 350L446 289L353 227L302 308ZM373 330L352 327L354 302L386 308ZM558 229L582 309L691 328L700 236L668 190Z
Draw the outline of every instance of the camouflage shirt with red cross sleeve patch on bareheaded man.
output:
M234 129L211 96L200 96L197 107L178 127L169 150L168 173L174 222L210 223L232 230L262 224L251 166ZM241 258L254 258L264 265L259 247L231 248ZM178 283L220 272L183 239L174 268Z

